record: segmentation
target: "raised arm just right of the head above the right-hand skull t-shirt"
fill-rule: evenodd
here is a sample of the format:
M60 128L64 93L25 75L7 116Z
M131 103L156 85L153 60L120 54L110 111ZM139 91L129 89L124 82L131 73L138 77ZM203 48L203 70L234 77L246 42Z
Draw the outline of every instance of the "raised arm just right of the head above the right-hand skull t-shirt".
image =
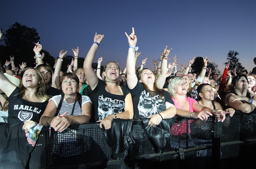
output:
M161 74L159 74L159 76L156 80L156 85L159 89L162 89L163 86L165 85L166 72L167 72L167 60L168 60L168 55L169 55L170 51L171 51L171 49L167 50L167 46L165 46L165 49L163 51Z

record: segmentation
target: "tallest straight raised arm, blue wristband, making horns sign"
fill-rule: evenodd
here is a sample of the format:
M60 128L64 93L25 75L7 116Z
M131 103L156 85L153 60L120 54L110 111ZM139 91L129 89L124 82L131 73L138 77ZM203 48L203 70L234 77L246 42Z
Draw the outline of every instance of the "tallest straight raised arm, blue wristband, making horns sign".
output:
M133 89L137 82L137 76L136 76L136 70L135 70L135 46L137 43L137 36L135 35L134 28L132 27L132 33L128 36L128 34L125 32L126 37L128 39L129 49L128 49L128 55L127 55L127 61L126 61L126 76L127 76L127 85L129 89Z

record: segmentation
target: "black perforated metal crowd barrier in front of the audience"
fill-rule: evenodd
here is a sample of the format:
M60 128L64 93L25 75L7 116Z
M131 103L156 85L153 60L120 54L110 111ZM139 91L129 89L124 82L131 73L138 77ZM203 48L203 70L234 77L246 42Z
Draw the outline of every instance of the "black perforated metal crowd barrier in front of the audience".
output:
M215 118L174 117L163 154L156 153L141 120L132 122L135 140L124 160L111 158L111 148L94 123L72 125L65 133L43 127L29 160L30 169L226 169L254 167L256 111L236 112L223 123ZM50 137L49 137L50 134Z

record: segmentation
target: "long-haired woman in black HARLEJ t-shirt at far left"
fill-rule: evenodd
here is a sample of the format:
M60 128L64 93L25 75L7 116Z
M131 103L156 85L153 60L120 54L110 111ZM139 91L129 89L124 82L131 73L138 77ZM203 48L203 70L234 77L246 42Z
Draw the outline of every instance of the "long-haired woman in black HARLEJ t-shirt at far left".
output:
M32 140L28 131L39 123L49 98L38 70L24 68L20 77L19 88L0 72L0 90L9 101L8 121L0 123L0 166L3 168L25 169L29 154L35 147L27 141Z

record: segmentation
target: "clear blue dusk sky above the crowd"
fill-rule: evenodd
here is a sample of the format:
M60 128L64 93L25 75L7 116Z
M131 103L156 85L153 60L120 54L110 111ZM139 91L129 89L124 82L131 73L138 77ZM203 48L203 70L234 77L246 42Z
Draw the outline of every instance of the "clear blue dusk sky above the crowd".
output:
M172 48L168 63L176 55L178 68L194 56L207 56L222 73L229 50L239 52L248 72L255 67L255 0L2 0L3 33L15 22L35 27L43 49L53 57L61 50L73 56L76 46L79 57L85 57L97 32L104 39L94 62L102 56L102 65L116 61L124 69L124 32L130 34L134 27L141 52L137 66L148 57L145 67L154 68L153 59L167 45Z

